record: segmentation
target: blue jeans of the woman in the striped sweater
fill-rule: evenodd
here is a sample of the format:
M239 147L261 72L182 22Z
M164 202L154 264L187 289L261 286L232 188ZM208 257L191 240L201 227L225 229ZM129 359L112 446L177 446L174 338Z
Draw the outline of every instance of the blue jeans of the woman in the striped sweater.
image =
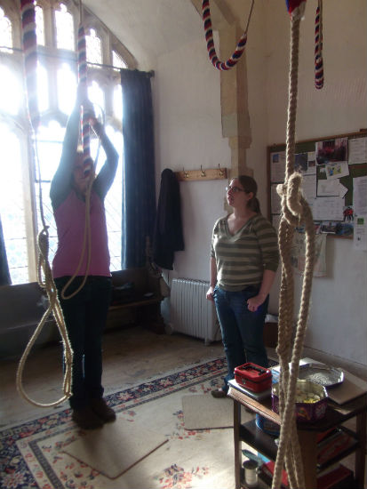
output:
M256 311L251 312L247 308L247 300L258 293L259 288L252 285L239 292L228 292L218 286L214 289L213 298L228 367L223 390L227 391L227 382L235 378L236 366L247 362L268 366L263 330L269 297Z

